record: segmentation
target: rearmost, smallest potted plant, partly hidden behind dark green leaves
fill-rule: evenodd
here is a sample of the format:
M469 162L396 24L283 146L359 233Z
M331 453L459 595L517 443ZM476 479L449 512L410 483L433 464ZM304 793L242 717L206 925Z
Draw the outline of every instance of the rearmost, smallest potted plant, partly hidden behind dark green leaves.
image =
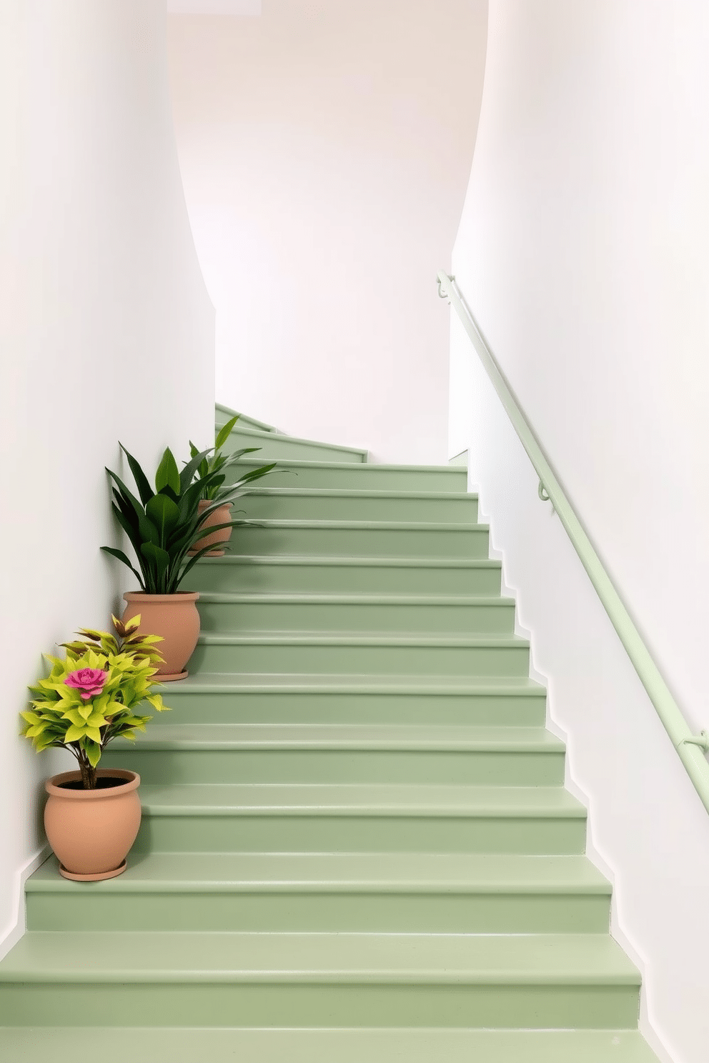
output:
M233 468L244 454L254 454L259 451L259 446L246 446L240 451L234 451L232 454L223 454L221 448L224 445L230 437L232 428L239 419L239 414L227 421L226 424L222 425L219 432L215 436L214 454L212 457L203 458L199 466L197 467L196 479L202 484L202 497L200 499L199 511L204 514L209 507L210 503L217 503L215 509L210 509L207 516L202 520L200 527L202 528L214 528L218 524L226 524L231 520L232 516L232 504L237 494L242 494L242 488L244 484L253 483L255 479L260 479L275 467L275 461L270 465L260 466L257 469L251 469L249 472L244 473L233 484L224 487L224 482L226 479L226 470ZM190 457L195 458L198 455L198 450L195 443L190 440L189 442ZM215 474L214 479L212 479L213 474ZM205 485L205 480L209 480ZM230 501L222 501L224 497L229 497ZM190 554L197 553L198 550L202 550L205 546L209 549L203 555L204 557L222 557L224 554L224 545L232 538L232 528L223 527L220 532L210 532L209 535L204 536L195 543L195 545L189 551Z

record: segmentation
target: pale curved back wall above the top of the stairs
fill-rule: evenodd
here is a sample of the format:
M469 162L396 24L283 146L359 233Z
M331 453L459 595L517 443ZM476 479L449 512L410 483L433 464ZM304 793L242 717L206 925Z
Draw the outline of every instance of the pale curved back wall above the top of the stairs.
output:
M266 0L170 17L221 402L384 460L445 459L448 263L487 0Z

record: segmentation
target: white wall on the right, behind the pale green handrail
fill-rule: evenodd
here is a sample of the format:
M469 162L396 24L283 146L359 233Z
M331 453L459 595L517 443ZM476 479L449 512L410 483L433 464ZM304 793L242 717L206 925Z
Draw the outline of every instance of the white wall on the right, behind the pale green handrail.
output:
M473 313L691 724L709 725L709 7L491 0L454 252ZM709 820L461 328L450 453L587 795L643 1024L707 1059ZM666 1058L666 1057L665 1057Z

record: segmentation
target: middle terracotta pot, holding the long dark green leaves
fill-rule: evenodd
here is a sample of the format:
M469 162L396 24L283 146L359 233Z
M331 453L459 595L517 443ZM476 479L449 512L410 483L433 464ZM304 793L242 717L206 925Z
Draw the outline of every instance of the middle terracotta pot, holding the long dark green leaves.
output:
M123 622L139 615L140 634L159 635L164 640L155 646L164 659L155 678L161 682L184 679L187 675L185 664L200 637L200 614L195 605L199 594L196 591L178 591L176 594L128 591L123 597L128 602Z

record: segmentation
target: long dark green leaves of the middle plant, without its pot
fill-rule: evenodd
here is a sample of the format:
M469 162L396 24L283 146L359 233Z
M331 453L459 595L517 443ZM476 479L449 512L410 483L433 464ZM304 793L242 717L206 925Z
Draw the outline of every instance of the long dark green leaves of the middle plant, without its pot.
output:
M136 459L122 443L120 448L133 473L139 497L128 489L115 472L106 469L114 482L112 508L131 541L140 571L122 550L114 546L102 546L101 550L128 566L147 594L174 594L192 566L210 549L203 546L189 555L195 543L204 535L200 530L202 521L220 505L243 493L239 490L241 484L255 477L248 473L239 484L218 491L218 497L200 512L199 504L204 490L215 486L221 488L224 480L224 476L218 471L207 472L199 480L195 480L199 466L214 448L196 454L182 472L168 448L155 473L155 490L151 488ZM226 521L212 526L209 532L236 527L242 523L240 520Z

